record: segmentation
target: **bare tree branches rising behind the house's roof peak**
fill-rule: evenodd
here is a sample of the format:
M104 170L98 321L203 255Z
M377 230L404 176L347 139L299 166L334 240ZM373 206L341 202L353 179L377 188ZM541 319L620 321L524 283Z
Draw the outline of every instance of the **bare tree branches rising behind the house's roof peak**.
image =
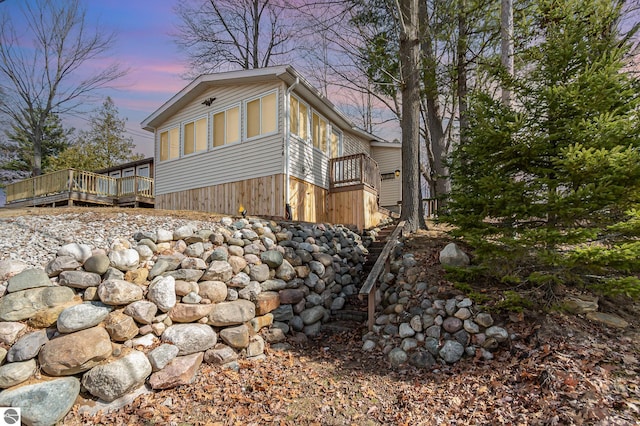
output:
M192 74L277 65L292 50L293 23L278 0L192 0L175 10Z

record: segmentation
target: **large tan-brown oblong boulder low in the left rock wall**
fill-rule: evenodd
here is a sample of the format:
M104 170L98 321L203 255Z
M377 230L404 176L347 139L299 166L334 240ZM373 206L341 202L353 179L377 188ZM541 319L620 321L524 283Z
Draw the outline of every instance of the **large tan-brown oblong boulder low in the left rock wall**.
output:
M40 368L52 376L70 376L87 371L112 352L109 333L102 327L65 334L40 349Z

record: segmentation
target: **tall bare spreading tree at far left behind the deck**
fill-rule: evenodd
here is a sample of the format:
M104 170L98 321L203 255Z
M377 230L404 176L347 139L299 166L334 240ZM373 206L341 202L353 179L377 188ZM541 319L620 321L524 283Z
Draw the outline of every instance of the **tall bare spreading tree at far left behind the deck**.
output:
M125 71L112 64L84 72L83 66L106 53L114 39L88 25L78 0L25 2L22 13L24 26L7 13L0 16L0 113L30 137L37 176L48 117L77 108Z

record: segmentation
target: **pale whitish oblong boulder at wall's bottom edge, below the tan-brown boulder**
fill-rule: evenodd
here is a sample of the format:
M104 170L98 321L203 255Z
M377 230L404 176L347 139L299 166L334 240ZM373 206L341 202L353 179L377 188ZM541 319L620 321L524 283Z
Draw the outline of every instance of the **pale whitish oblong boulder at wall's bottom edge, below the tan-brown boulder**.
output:
M134 350L84 373L82 385L91 395L111 402L142 386L150 374L149 359L144 352Z

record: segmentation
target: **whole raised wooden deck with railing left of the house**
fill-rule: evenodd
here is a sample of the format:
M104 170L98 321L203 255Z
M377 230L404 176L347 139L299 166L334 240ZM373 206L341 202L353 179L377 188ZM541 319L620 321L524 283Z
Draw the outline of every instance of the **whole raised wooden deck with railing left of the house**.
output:
M153 179L112 178L75 169L59 170L7 185L6 207L82 205L153 207Z

